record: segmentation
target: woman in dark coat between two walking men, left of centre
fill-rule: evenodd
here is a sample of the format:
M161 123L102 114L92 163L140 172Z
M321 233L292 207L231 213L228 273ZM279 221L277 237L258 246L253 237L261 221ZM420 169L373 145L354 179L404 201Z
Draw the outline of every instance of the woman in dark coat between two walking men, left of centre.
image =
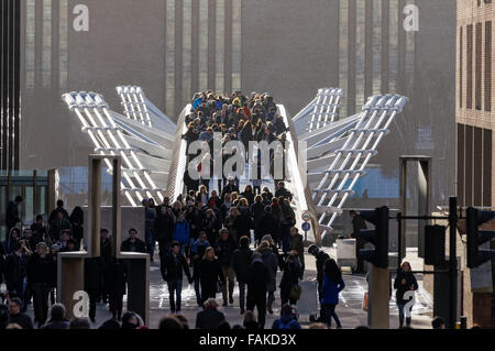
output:
M206 301L208 298L216 298L217 283L226 284L222 268L218 259L215 256L215 249L208 248L205 256L199 264L199 282L201 284L201 299Z

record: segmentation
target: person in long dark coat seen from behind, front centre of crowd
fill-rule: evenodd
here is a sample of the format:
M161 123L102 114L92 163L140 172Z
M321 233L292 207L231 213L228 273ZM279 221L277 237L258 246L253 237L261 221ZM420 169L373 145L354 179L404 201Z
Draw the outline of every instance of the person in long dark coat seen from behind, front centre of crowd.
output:
M263 255L254 253L253 263L248 267L248 310L257 308L257 320L260 329L265 328L266 293L271 283L268 268L263 264Z

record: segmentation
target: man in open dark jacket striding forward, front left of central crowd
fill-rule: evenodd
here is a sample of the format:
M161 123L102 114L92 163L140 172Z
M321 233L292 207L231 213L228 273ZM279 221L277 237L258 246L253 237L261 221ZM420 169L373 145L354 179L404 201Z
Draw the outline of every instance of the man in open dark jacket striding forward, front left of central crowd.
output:
M182 292L183 292L183 272L186 273L189 284L193 278L189 272L184 254L180 254L180 243L174 241L172 243L170 252L161 262L162 277L168 285L168 297L170 300L170 312L180 312Z

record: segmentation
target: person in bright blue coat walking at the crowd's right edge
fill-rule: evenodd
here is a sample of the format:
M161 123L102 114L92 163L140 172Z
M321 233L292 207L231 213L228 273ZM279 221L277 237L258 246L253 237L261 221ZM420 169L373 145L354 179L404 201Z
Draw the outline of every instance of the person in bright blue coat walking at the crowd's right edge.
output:
M337 328L342 329L339 317L336 314L336 307L339 304L339 293L345 287L337 262L333 259L327 260L324 263L324 277L322 287L321 306L323 309L324 322L332 326L332 318L336 320Z

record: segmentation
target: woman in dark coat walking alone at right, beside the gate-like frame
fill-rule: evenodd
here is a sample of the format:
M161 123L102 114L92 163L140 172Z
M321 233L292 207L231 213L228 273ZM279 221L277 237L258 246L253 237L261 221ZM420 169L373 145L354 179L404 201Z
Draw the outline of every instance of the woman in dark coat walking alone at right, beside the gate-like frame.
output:
M396 289L395 299L397 303L397 308L399 311L399 327L404 327L404 317L405 317L405 307L406 304L410 301L413 298L408 298L406 295L407 292L415 292L418 289L418 282L410 268L410 263L404 261L400 265L400 270L397 272L397 276L394 281L394 288ZM413 304L409 306L409 316L413 310ZM406 317L406 326L410 327L413 318Z

